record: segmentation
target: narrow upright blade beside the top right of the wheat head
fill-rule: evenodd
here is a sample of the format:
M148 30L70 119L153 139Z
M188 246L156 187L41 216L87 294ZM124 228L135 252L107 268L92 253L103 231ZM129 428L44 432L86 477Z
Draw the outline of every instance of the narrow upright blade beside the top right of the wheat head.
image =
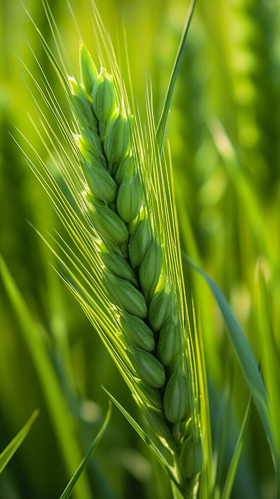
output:
M187 35L188 35L189 27L191 24L195 4L196 4L196 0L192 0L192 3L190 5L190 9L189 9L189 12L187 15L186 23L184 26L184 30L182 33L182 37L180 40L180 44L179 44L179 47L177 50L176 58L174 61L172 73L170 76L170 80L169 80L169 84L168 84L168 88L167 88L167 92L166 92L166 96L165 96L162 114L161 114L160 121L159 121L158 128L157 128L156 138L157 138L157 143L159 146L160 156L162 155L162 150L163 150L163 141L164 141L164 135L165 135L165 131L166 131L168 114L169 114L169 110L170 110L170 106L171 106L171 100L172 100L177 76L179 73L180 64L182 61L182 56L183 56L183 52L184 52L184 48L185 48Z

